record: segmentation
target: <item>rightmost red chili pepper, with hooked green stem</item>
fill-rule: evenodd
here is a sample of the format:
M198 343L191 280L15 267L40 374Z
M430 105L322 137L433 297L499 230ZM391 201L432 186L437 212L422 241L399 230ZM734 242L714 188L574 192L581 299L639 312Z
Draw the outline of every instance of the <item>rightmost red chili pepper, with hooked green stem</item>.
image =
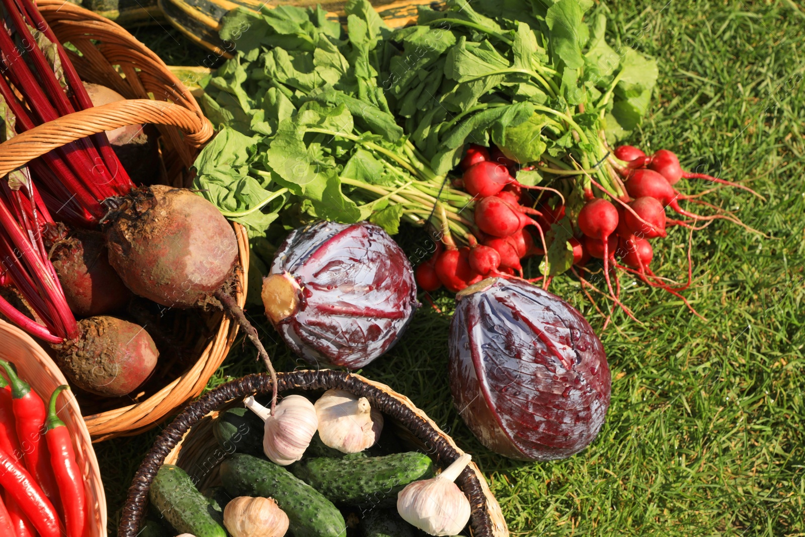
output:
M56 415L56 399L62 390L70 386L59 386L53 391L47 407L47 448L51 454L53 473L56 474L56 484L64 498L64 526L67 527L67 537L84 537L84 523L87 518L87 496L84 489L84 479L81 469L76 463L76 452L72 449L70 432L64 422Z

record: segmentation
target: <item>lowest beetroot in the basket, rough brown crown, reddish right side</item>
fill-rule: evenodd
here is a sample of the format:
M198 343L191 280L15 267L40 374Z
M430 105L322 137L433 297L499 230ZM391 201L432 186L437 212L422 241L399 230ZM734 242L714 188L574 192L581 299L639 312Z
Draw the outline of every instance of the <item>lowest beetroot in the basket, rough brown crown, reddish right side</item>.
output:
M138 324L96 316L78 321L78 328L78 338L53 347L60 369L82 390L120 397L154 370L159 351Z

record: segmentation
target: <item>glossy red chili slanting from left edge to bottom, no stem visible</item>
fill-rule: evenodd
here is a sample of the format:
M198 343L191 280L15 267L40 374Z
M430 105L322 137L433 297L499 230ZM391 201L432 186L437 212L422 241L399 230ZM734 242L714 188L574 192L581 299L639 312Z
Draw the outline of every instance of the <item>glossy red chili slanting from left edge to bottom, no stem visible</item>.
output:
M53 504L34 477L14 456L0 450L0 486L14 498L19 508L39 532L39 537L60 537L61 524Z

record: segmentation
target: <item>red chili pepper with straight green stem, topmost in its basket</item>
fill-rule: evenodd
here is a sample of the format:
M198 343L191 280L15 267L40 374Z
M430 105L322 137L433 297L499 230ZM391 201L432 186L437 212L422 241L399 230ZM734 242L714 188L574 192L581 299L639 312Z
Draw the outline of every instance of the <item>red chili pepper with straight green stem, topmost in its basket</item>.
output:
M23 449L25 466L34 475L47 498L50 498L56 509L60 509L56 477L53 477L50 457L47 456L47 443L42 441L47 415L45 403L31 390L27 382L17 376L17 372L7 361L0 360L0 366L6 370L11 384L11 407L14 410L17 438Z

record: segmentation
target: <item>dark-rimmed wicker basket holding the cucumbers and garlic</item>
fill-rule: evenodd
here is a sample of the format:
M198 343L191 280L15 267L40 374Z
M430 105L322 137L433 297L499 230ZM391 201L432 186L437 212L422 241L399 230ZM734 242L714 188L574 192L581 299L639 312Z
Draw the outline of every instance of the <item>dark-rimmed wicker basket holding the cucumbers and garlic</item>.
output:
M397 426L398 431L405 433L400 435L403 440L434 457L437 465L447 466L463 453L452 438L415 407L410 399L385 384L372 382L357 374L333 370L295 371L279 373L278 376L280 392L321 392L339 388L369 399L372 407L386 415L386 426L390 423ZM270 377L267 374L252 374L220 386L185 408L159 436L134 475L123 506L118 537L135 537L138 534L148 489L163 463L181 466L202 485L216 484L217 468L224 453L213 438L213 417L217 411L240 403L247 395L270 393ZM507 537L509 530L500 506L475 463L470 463L464 469L456 484L470 498L473 511L469 525L473 537Z

